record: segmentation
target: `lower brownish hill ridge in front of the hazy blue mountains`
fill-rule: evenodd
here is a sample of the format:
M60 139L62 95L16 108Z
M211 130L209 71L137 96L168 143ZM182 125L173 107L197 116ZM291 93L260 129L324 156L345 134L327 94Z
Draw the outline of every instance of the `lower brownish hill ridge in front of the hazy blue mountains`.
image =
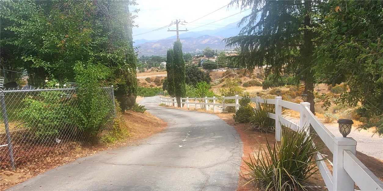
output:
M196 52L202 51L207 46L212 49L222 50L225 49L225 43L222 42L223 37L203 35L197 38L187 37L180 38L182 42L183 52ZM173 47L173 42L176 38L166 38L155 42L145 42L139 46L139 56L148 54L166 54L167 50ZM147 56L147 55L146 55Z

